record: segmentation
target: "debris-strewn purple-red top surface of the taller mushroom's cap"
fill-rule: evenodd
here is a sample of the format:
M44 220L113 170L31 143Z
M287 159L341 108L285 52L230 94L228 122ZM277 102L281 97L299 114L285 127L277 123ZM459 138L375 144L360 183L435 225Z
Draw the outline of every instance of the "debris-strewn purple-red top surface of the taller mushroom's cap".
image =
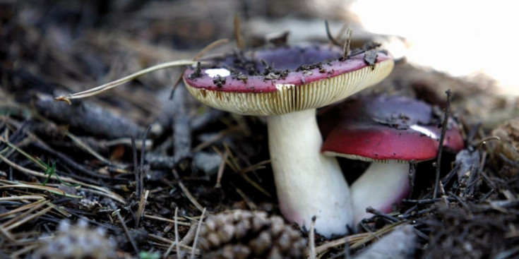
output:
M370 66L364 54L341 60L342 49L329 44L270 47L253 52L227 54L184 72L192 88L220 92L275 92L276 85L304 85ZM377 63L390 57L378 52ZM222 82L215 81L221 76Z

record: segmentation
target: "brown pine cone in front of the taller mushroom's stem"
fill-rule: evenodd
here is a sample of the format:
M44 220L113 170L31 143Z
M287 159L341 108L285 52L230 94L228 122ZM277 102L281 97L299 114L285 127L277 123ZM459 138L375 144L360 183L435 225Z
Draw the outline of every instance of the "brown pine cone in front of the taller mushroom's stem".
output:
M205 259L304 258L299 231L266 212L232 210L208 217L198 246Z

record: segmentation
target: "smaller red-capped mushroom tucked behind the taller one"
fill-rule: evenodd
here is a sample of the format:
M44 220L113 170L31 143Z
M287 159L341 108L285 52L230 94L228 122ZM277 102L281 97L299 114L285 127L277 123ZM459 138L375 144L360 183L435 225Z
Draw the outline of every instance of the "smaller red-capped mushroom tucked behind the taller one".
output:
M366 207L391 212L409 193L409 162L436 157L440 121L428 104L409 97L363 97L341 105L340 119L333 118L338 123L321 150L328 156L371 162L351 186L354 220L359 222L368 216ZM454 125L448 125L443 147L463 148Z

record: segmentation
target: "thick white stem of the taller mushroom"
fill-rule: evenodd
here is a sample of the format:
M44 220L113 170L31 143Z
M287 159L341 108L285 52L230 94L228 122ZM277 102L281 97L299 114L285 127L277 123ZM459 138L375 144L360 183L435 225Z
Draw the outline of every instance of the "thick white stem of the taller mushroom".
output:
M352 203L337 159L321 155L316 109L268 116L268 145L285 218L326 237L347 233Z

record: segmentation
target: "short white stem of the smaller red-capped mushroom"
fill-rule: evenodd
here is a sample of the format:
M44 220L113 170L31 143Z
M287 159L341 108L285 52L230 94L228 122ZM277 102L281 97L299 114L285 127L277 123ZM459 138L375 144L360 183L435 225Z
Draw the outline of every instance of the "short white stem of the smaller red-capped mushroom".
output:
M355 224L373 216L366 212L369 206L381 212L392 212L393 204L399 203L409 193L408 176L408 163L396 160L371 162L364 174L352 184Z

